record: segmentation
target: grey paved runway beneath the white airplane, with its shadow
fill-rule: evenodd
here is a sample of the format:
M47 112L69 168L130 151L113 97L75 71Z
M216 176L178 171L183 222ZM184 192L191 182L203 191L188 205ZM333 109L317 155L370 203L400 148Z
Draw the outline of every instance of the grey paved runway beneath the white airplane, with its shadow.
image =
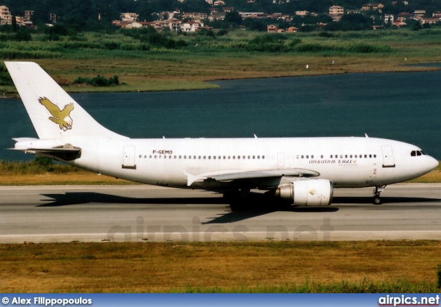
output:
M441 240L441 184L335 189L329 207L232 211L222 194L154 187L0 187L0 243ZM259 195L253 199L259 200Z

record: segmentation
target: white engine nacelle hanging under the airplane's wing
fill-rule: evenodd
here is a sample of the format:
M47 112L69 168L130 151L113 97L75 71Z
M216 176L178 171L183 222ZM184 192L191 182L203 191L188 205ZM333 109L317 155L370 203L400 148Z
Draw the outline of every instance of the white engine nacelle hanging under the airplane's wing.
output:
M275 196L302 206L329 206L334 184L326 179L308 179L289 182L276 189Z

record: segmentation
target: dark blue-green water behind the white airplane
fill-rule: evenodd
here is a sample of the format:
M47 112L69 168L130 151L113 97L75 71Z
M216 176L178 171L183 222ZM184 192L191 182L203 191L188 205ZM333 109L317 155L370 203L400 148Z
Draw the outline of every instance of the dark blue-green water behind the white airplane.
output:
M131 138L365 136L418 145L441 160L441 72L216 81L187 92L72 94L103 126ZM0 100L0 159L37 137L21 100Z

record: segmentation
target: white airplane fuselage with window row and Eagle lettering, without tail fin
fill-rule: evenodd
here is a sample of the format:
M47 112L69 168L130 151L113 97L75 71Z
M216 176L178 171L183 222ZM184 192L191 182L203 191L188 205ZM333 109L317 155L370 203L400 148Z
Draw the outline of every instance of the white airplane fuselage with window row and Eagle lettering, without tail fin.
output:
M40 141L41 142L41 141ZM229 182L196 180L188 175L229 171L305 169L334 187L375 187L421 176L438 162L414 145L380 138L183 138L63 140L81 148L72 165L146 184L220 189ZM55 147L57 144L52 144ZM61 145L61 144L60 144ZM271 189L286 178L251 180ZM300 176L301 178L302 176Z

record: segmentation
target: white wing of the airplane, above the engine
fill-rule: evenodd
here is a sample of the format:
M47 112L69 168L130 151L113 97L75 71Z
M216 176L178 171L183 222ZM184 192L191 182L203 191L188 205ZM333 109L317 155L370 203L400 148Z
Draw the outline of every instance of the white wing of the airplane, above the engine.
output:
M198 175L192 175L185 172L187 176L187 187L191 186L193 182L197 180L216 180L216 181L232 181L240 179L252 179L252 178L277 178L277 177L316 177L320 173L311 171L310 169L262 169L257 171L222 171L201 173Z

